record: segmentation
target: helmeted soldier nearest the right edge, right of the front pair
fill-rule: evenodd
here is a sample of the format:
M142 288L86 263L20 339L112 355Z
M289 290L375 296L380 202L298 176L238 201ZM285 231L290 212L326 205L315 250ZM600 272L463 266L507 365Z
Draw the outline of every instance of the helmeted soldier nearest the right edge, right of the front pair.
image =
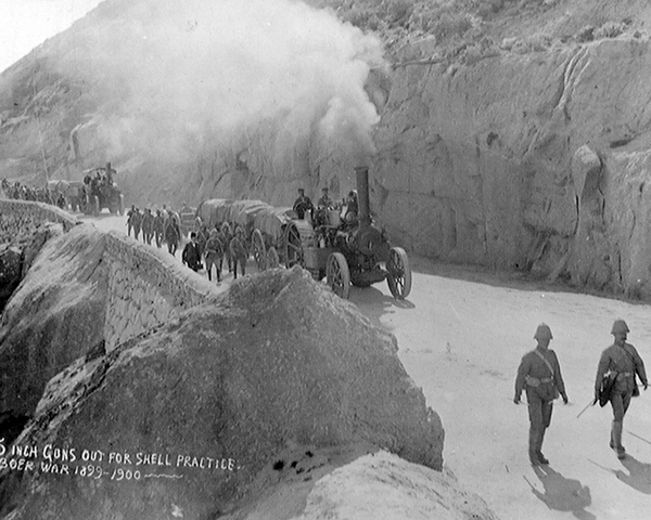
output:
M610 447L615 451L617 458L626 456L626 450L622 445L622 429L624 416L630 404L630 398L639 395L639 390L635 381L637 374L644 386L649 387L644 363L638 354L635 347L626 342L627 334L630 330L624 320L615 320L611 334L615 341L601 353L599 365L597 366L597 377L595 379L595 403L599 400L599 389L601 381L607 373L611 373L615 378L615 386L610 395L610 402L613 407L613 424L611 427Z

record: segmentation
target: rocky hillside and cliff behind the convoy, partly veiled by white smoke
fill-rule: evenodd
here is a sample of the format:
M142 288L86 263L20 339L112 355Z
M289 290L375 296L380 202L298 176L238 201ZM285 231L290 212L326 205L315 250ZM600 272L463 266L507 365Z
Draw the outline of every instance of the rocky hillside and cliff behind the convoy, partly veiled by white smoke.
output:
M648 2L309 3L106 0L0 77L0 176L288 205L363 161L398 245L651 297Z

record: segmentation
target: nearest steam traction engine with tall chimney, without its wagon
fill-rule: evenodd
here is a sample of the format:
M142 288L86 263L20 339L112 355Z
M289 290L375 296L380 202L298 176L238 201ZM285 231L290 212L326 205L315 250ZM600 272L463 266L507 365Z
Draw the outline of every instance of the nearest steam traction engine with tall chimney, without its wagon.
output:
M350 284L368 287L386 280L392 295L404 299L411 290L409 259L403 248L391 247L385 231L371 220L368 168L355 168L355 173L359 197L356 221L342 222L335 210L326 211L326 218L316 217L314 222L292 220L284 227L285 266L299 264L316 280L326 276L342 298L348 298Z

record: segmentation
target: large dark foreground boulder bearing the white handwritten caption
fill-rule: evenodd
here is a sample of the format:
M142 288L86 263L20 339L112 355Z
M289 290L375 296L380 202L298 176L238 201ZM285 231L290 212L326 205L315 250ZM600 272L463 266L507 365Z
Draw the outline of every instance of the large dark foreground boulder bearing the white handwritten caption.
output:
M360 443L441 469L441 420L395 354L301 269L244 278L56 376L15 442L36 466L5 472L1 512L213 518L264 494L257 476ZM56 472L49 444L67 455Z

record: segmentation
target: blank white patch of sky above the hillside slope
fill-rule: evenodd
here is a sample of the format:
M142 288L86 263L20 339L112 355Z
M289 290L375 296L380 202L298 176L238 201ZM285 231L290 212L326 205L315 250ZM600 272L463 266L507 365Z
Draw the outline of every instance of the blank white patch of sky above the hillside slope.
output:
M0 73L102 0L0 0Z

